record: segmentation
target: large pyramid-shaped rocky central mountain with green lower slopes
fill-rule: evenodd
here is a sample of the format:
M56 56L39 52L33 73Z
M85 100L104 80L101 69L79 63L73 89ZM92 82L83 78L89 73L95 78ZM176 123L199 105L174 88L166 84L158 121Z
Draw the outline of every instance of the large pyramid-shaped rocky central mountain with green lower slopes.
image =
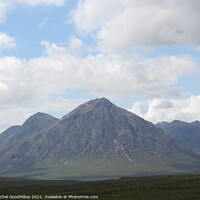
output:
M23 126L30 130L29 123ZM32 128L15 132L6 152L0 148L0 175L84 179L200 168L198 155L187 146L106 98L78 106L43 130Z

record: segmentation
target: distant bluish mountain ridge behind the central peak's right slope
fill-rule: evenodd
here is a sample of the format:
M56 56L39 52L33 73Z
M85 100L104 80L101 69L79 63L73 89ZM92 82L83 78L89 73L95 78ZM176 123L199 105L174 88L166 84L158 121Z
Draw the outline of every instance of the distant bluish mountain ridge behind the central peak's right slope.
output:
M200 152L200 122L195 121L187 123L174 120L171 123L164 123L163 126L158 123L157 127L161 128L165 133L172 135L177 140L186 143L195 151Z

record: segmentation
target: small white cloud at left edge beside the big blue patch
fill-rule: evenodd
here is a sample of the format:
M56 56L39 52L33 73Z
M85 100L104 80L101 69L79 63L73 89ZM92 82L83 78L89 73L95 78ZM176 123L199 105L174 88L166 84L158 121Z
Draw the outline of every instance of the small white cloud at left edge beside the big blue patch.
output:
M0 51L3 49L12 49L16 47L15 38L0 32Z

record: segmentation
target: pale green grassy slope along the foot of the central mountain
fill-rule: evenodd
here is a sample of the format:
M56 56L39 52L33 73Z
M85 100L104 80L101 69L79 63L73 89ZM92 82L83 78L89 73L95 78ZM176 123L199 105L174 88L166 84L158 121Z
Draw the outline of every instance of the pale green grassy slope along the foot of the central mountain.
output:
M34 165L31 168L24 168L23 166L17 169L3 168L0 170L0 176L9 177L25 177L34 179L98 179L113 178L121 176L137 176L139 175L164 175L164 174L178 174L190 173L199 171L200 163L191 158L180 156L174 158L170 162L168 158L148 158L141 157L140 160L133 162L127 159L121 159L120 162L114 159L101 162L99 160L87 162L84 159L72 160L66 165L60 164L56 161L46 160L42 163ZM143 162L145 160L145 163ZM174 164L172 166L171 162ZM195 167L189 166L188 163L196 163ZM52 164L53 163L53 164ZM153 163L153 164L152 164ZM178 163L176 166L176 163Z

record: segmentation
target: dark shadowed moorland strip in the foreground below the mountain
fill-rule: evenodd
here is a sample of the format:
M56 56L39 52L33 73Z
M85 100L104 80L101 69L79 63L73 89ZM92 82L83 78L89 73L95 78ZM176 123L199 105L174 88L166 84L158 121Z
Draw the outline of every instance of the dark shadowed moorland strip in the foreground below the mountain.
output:
M60 195L62 199L78 199L78 195L82 195L81 199L98 197L102 200L199 200L200 174L100 181L0 178L0 199L16 198L16 195L30 195L31 199L59 199L59 196L52 195ZM18 198L20 199L20 196Z

